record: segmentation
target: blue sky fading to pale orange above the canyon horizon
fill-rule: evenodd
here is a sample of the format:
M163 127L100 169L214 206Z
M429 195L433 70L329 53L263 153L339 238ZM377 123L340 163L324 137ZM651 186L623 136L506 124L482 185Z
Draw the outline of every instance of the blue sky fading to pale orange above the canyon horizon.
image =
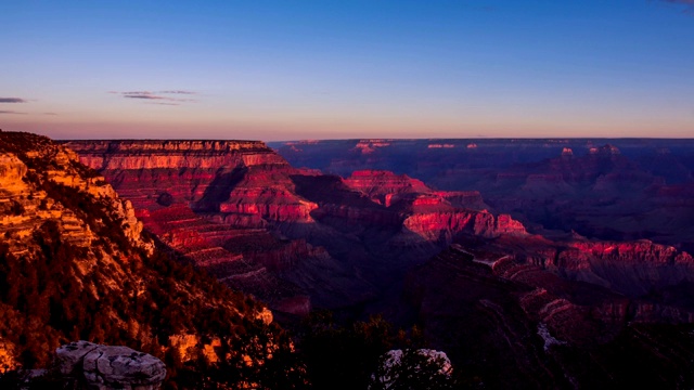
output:
M0 1L0 129L694 138L694 0Z

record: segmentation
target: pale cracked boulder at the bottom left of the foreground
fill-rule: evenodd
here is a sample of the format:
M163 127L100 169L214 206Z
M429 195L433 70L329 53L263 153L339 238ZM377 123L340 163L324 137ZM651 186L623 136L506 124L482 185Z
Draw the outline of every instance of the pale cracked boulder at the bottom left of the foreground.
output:
M62 375L83 380L89 389L158 389L166 377L164 363L128 347L77 341L55 351Z

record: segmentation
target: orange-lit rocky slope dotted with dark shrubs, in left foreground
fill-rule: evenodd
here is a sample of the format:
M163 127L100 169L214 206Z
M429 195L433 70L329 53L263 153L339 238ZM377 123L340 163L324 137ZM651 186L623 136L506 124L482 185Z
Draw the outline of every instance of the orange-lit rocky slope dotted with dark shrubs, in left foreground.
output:
M0 172L5 367L46 366L59 344L87 339L159 356L191 387L273 388L299 375L267 309L155 248L130 200L74 152L0 132Z

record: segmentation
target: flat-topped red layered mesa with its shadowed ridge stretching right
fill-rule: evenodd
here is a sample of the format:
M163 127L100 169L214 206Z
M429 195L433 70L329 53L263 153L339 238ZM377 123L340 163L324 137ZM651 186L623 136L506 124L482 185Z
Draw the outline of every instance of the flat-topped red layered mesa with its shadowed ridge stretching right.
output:
M435 192L385 171L344 180L296 169L259 142L65 146L182 259L285 313L377 299L461 234L526 234L509 216L485 210L476 193Z

